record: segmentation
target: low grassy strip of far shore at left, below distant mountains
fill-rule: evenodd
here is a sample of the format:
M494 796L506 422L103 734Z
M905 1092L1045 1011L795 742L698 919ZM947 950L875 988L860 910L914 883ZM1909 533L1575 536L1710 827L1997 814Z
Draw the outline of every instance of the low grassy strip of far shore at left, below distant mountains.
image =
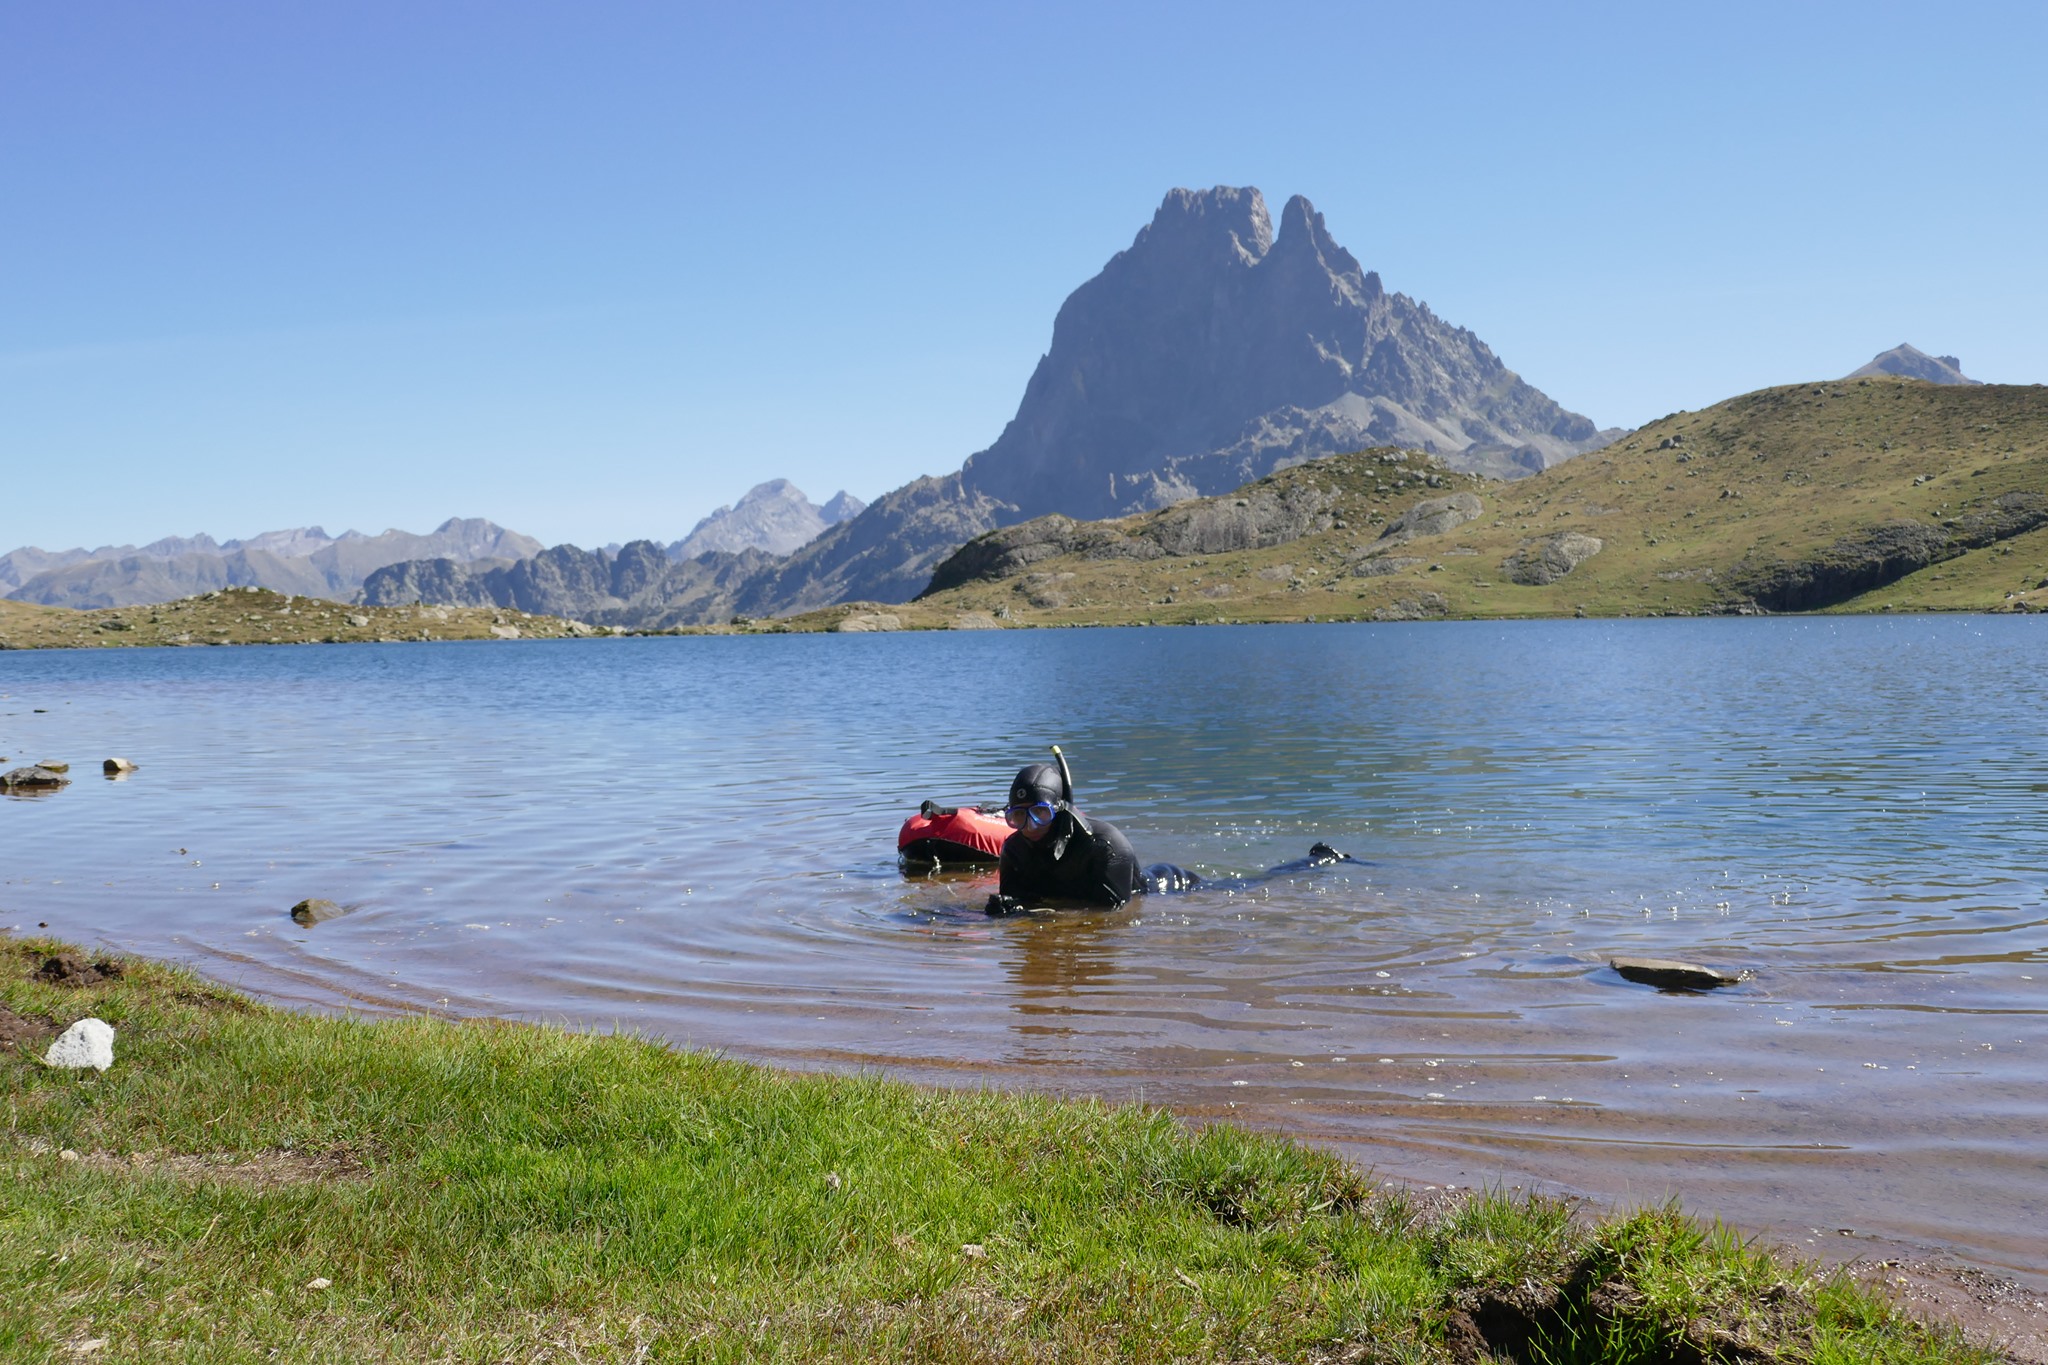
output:
M338 645L344 641L494 641L596 634L590 626L510 608L346 606L268 587L74 612L0 600L0 649L98 645Z

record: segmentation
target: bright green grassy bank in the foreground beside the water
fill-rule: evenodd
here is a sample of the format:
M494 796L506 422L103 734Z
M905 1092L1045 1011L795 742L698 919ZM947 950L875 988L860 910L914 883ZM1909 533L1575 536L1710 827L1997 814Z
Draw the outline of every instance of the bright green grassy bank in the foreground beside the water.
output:
M1991 1359L1667 1212L55 950L0 939L0 1359Z

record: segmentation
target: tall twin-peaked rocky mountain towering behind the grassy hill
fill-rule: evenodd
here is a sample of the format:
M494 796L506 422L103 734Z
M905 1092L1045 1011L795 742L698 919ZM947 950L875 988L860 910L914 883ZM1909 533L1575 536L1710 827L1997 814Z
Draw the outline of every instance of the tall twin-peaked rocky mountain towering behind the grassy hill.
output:
M1024 516L1100 518L1337 450L1399 444L1513 477L1608 438L1386 293L1307 199L1276 239L1253 188L1174 190L1059 309L1018 415L963 479Z

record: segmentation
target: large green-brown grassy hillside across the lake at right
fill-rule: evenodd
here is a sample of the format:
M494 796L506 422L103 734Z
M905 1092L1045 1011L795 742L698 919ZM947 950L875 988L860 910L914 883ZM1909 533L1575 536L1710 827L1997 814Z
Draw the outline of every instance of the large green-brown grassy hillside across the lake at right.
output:
M1382 538L1417 503L1460 491L1479 497L1473 520ZM1321 512L1288 540L1176 551L1165 524L1192 503L1120 522L1042 518L965 546L915 604L778 626L2048 610L2044 387L1790 385L1673 413L1518 483L1368 450L1202 505L1221 516L1290 497ZM1516 581L1546 577L1546 548L1589 548L1567 536L1597 551L1552 581Z

